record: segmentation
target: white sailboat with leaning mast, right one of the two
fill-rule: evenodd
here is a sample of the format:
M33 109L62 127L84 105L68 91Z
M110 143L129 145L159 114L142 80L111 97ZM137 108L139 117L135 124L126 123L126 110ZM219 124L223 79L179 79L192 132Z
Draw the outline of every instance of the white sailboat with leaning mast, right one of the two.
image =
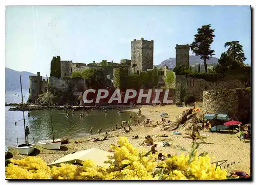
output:
M48 89L48 100L49 100L49 107L50 107L50 115L51 115L51 123L52 123L52 111L51 111L51 101L50 101L50 91L49 91L49 85L48 85L48 77L47 78L47 89ZM53 125L52 125L52 140L41 140L38 141L38 144L42 148L46 149L60 149L61 146L61 139L54 140L54 134L53 134Z

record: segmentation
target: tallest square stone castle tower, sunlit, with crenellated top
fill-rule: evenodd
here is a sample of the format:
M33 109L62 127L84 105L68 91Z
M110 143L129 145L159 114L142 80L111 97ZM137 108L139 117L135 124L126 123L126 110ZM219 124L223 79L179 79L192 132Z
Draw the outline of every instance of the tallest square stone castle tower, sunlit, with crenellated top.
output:
M131 67L134 72L153 69L154 41L134 39L132 41Z

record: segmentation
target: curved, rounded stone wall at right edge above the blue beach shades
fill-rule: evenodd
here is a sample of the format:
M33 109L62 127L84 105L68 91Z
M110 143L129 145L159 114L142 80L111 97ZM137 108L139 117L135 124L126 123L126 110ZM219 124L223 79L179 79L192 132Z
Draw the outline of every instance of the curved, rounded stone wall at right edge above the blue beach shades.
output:
M203 91L203 112L227 114L231 119L249 122L250 91L246 89Z

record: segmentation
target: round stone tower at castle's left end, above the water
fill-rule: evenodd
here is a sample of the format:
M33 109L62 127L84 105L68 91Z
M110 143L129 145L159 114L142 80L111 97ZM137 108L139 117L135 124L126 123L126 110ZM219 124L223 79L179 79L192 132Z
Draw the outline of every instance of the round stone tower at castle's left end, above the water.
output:
M37 76L29 76L29 98L27 101L28 103L35 103L38 95L42 94L41 81L42 76L40 76L40 72L37 72Z

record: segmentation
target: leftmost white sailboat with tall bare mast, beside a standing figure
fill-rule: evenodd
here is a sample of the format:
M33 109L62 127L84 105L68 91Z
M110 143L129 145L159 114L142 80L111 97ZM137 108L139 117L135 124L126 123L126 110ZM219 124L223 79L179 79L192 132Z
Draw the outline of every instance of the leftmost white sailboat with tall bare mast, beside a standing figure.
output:
M20 90L22 91L22 77L20 75L19 75L19 80L20 80ZM23 92L22 92L22 111L23 111L23 121L24 121L25 144L18 145L18 141L17 141L17 145L15 148L18 150L19 154L29 155L34 151L35 145L28 143L28 138L26 137L26 133L25 133L26 121L25 121L25 115L24 115Z

